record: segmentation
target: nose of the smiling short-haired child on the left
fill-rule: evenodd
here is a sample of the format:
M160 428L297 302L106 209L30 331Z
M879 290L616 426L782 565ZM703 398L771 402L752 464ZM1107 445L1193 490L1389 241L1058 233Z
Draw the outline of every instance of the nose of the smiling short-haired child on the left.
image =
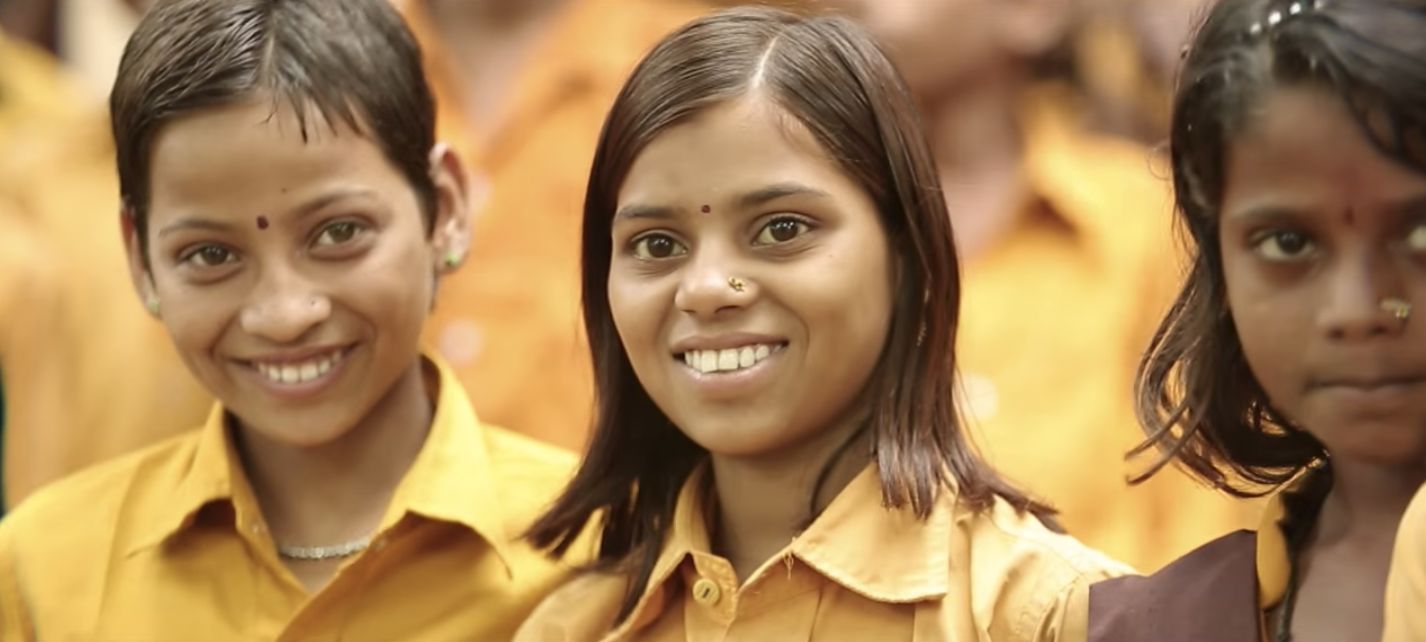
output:
M332 314L331 300L301 275L265 272L242 308L242 330L275 344L291 344Z

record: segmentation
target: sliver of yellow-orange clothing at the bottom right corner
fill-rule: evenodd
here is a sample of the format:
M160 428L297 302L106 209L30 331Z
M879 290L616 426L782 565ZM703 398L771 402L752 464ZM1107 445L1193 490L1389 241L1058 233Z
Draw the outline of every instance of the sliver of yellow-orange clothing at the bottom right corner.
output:
M1382 641L1426 641L1426 486L1416 491L1396 529Z

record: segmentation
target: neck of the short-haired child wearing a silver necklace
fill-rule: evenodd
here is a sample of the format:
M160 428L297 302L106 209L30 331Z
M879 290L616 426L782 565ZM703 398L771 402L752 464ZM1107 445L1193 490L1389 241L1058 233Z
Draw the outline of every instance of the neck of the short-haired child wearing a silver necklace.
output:
M418 361L371 414L328 444L298 447L240 427L244 469L272 539L328 546L369 536L425 444L432 411Z

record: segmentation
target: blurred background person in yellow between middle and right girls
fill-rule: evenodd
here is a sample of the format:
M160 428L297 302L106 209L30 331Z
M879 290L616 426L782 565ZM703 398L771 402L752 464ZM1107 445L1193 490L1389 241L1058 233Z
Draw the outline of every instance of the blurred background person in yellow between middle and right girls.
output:
M1149 151L1092 134L1067 81L1084 6L826 4L881 39L921 103L964 257L961 389L991 464L1141 569L1253 524L1178 471L1127 485L1135 364L1179 261Z

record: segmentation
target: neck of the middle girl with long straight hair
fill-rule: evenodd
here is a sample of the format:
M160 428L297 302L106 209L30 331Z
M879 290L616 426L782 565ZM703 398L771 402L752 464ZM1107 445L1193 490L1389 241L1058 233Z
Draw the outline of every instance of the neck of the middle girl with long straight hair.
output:
M773 455L712 457L717 494L713 552L727 558L740 579L786 548L867 467L870 435L856 435L861 425L856 417ZM853 435L856 441L841 451ZM838 451L843 455L833 461Z

